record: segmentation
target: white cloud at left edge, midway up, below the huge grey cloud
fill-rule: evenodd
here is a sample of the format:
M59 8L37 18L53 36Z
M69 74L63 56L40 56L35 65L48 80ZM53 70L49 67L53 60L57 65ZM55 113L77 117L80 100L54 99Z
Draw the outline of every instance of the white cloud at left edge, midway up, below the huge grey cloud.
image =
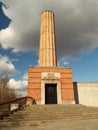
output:
M15 66L13 65L11 59L7 57L6 55L2 56L0 55L0 76L2 75L14 75L18 71L15 69Z

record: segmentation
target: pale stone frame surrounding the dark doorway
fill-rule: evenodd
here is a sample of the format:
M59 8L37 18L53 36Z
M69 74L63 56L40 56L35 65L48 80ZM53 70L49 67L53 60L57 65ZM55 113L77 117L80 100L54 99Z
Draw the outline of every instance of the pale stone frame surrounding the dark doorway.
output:
M57 104L61 104L61 84L60 80L42 80L41 81L41 104L45 104L45 84L57 84Z

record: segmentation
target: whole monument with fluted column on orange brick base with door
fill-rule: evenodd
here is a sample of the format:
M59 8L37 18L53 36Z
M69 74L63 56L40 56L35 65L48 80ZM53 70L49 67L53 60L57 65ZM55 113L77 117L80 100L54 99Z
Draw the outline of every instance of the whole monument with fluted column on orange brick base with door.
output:
M28 68L28 96L37 104L74 104L72 68L57 66L52 11L41 14L39 65Z

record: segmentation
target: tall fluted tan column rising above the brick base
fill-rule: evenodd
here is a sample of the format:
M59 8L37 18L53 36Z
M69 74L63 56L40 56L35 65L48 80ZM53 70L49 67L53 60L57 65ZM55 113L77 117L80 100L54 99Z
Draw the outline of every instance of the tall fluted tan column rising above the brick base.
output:
M41 14L39 66L57 66L55 22L52 11L44 11Z

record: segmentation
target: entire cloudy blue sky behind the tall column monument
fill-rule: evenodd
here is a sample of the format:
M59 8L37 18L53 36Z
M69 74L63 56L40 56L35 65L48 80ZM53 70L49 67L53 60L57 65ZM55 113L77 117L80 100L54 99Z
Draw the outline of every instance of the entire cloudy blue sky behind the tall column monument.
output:
M74 81L98 81L97 0L1 0L0 76L27 85L28 66L38 64L43 10L55 13L58 65L72 67Z

